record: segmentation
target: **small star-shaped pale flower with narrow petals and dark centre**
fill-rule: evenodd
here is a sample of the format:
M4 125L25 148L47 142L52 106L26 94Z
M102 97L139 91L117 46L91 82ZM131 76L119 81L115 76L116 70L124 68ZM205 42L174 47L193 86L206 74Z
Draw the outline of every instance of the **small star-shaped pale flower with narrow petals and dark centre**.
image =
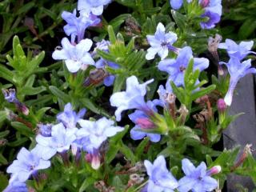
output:
M158 54L161 59L167 57L169 50L178 51L172 46L177 41L177 34L169 32L166 34L166 28L161 22L158 23L157 31L154 35L146 35L147 41L150 43L150 48L147 50L146 59L153 59Z

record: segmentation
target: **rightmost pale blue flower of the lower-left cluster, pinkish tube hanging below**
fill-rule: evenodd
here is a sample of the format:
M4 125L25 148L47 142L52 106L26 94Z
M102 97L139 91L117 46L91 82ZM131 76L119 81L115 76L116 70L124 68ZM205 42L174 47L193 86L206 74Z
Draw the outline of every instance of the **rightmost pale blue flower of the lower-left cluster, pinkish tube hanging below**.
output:
M82 128L76 133L77 140L75 143L86 150L91 166L97 170L100 166L100 146L107 138L114 136L124 128L114 126L114 122L107 118L100 118L96 122L81 119L78 123Z

